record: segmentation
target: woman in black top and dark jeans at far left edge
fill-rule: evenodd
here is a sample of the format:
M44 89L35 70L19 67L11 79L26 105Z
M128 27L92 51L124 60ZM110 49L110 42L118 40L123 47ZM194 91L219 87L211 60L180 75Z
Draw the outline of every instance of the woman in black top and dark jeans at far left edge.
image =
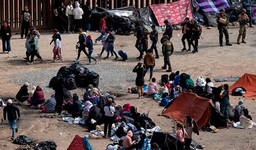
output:
M8 26L8 22L6 20L3 21L3 25L0 29L0 40L2 39L3 45L3 54L7 51L10 54L11 51L11 37L12 32L10 26Z

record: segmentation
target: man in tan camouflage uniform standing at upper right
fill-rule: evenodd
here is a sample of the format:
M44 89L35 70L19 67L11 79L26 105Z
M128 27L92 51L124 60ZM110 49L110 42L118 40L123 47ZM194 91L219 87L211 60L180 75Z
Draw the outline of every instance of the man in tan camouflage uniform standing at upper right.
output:
M242 36L242 43L246 43L245 42L246 24L249 20L249 17L245 13L246 13L246 10L243 9L242 13L240 15L238 15L240 30L239 30L239 35L238 35L238 38L237 38L237 44L240 44L241 36Z

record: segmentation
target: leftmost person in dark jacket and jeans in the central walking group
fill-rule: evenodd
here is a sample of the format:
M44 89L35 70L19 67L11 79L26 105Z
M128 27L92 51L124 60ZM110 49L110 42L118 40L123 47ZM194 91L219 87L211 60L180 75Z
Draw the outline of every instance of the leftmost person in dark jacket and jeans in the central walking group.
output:
M141 43L141 40L142 40L142 35L143 35L143 28L142 26L140 26L139 23L136 23L135 24L135 27L136 27L136 43L135 43L135 47L139 50L140 52L140 56L137 57L136 59L137 60L141 60L142 56L143 56L143 51L142 51L142 43Z

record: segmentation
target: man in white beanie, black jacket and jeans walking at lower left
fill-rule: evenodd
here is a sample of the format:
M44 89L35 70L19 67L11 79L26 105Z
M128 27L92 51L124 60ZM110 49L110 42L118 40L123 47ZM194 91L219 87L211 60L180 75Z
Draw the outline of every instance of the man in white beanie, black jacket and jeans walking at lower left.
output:
M17 118L17 115L16 115L16 111L17 111L17 114L18 114L18 118ZM17 122L17 120L20 119L20 113L19 113L18 107L13 105L12 100L8 100L7 101L7 106L5 106L3 108L3 119L4 120L6 120L6 112L7 112L7 118L8 118L9 124L12 128L12 137L11 137L11 139L14 140L15 132L16 133L18 132L18 127L16 127L16 122Z

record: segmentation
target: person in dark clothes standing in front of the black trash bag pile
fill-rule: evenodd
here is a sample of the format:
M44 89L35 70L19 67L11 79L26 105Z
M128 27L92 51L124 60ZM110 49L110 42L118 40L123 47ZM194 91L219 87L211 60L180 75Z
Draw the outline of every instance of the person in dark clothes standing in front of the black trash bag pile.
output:
M57 84L55 84L55 86L53 87L53 90L55 91L55 100L56 100L54 114L57 115L58 113L59 116L61 117L64 116L63 114L61 114L61 108L64 101L64 93L65 93L65 87L63 83L64 83L63 78L60 78Z

